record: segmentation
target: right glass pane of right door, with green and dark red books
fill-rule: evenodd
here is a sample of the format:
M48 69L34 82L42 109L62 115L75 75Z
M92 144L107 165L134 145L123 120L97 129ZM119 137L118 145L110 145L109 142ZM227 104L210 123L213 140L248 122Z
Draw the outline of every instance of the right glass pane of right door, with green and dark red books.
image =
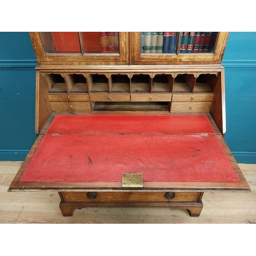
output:
M180 53L213 53L218 32L181 32Z

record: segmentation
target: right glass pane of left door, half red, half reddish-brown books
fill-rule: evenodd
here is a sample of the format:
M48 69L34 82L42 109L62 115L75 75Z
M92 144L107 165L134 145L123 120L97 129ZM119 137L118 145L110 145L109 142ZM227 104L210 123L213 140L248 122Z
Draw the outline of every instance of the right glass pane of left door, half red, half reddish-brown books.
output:
M82 32L83 50L87 53L119 53L118 32Z

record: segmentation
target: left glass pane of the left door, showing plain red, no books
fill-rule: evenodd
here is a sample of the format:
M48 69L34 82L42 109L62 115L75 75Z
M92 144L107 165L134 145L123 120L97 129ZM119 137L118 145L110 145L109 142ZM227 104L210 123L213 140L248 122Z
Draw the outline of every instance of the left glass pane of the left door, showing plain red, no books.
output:
M81 53L78 32L41 32L46 53Z

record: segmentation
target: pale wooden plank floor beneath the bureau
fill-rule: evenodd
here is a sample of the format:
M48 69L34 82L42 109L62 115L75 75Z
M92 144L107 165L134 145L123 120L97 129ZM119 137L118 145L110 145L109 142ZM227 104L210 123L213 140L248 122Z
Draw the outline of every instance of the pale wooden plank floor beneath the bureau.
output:
M256 223L256 164L239 164L251 193L205 193L200 217L170 208L84 208L63 217L51 192L7 192L22 162L0 162L0 223Z

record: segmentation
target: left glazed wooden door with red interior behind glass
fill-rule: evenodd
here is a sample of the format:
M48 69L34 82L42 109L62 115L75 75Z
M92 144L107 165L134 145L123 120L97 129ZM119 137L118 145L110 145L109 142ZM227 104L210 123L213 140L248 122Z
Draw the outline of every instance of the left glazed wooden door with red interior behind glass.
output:
M39 65L125 65L127 32L31 32Z

